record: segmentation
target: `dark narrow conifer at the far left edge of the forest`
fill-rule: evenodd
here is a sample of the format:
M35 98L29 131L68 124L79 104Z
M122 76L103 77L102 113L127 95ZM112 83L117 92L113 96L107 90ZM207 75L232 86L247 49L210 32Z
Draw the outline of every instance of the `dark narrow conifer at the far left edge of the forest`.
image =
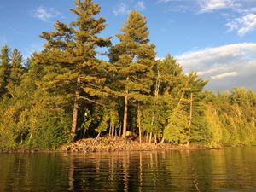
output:
M9 48L4 45L0 55L0 96L6 92L9 78Z

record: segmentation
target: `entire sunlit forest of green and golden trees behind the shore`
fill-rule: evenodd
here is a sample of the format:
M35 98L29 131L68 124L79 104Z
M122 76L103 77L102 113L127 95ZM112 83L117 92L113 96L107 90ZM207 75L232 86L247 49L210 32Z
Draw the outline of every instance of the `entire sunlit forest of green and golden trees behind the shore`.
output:
M2 47L0 150L55 150L81 138L130 134L140 143L256 143L253 90L214 93L172 55L156 59L147 20L136 10L117 44L102 38L99 4L76 0L70 11L76 19L42 32L44 48L26 61L18 49Z

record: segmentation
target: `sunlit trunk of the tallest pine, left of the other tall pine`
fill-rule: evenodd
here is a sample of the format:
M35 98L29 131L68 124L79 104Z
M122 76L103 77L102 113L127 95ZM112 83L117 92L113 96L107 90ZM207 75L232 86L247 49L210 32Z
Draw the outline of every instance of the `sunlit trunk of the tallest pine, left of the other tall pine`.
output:
M76 136L77 123L78 123L80 83L81 83L81 79L80 79L80 77L78 77L77 87L76 87L76 91L75 91L75 100L73 103L73 118L72 118L72 128L71 128L71 132L73 133L73 140L75 139L75 136Z

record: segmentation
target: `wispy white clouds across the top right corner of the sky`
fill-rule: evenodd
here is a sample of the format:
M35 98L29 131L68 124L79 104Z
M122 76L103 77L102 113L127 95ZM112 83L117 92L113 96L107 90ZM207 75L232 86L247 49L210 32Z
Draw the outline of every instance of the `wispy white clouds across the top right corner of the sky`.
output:
M227 32L236 32L240 37L256 30L255 0L159 0L158 3L171 3L172 11L193 10L195 14L209 14L219 11L226 20Z

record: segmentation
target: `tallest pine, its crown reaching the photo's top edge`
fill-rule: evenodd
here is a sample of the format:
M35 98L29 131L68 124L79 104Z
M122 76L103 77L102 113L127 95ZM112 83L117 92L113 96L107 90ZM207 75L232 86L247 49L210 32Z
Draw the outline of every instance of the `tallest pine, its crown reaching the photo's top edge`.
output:
M98 37L106 24L104 18L97 18L101 10L97 3L76 0L75 9L70 10L77 16L70 26L57 21L55 32L42 33L47 43L38 63L44 66L44 89L55 93L61 89L61 96L73 99L71 130L75 135L80 99L95 102L103 94L106 63L96 58L96 48L109 46L110 38Z

